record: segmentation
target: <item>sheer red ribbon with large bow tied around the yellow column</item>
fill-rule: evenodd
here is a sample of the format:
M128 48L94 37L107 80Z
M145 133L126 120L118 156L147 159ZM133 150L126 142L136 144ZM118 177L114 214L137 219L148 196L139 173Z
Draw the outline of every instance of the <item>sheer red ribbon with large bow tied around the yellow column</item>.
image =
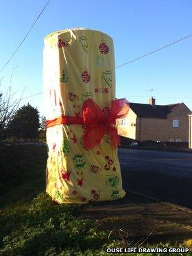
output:
M83 125L85 134L83 144L86 149L93 149L107 133L111 138L112 145L119 145L116 119L122 118L128 113L129 104L126 99L117 99L111 103L111 111L105 116L102 109L92 100L88 99L82 106L82 117L61 116L53 120L47 120L47 128L54 125Z

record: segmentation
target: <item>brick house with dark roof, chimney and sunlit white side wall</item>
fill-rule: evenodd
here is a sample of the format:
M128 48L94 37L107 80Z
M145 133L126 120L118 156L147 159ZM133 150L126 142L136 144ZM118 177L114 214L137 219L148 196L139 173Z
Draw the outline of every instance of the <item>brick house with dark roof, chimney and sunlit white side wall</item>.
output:
M140 141L188 142L191 111L184 103L161 106L152 97L148 104L129 106L126 118L117 119L119 135Z

